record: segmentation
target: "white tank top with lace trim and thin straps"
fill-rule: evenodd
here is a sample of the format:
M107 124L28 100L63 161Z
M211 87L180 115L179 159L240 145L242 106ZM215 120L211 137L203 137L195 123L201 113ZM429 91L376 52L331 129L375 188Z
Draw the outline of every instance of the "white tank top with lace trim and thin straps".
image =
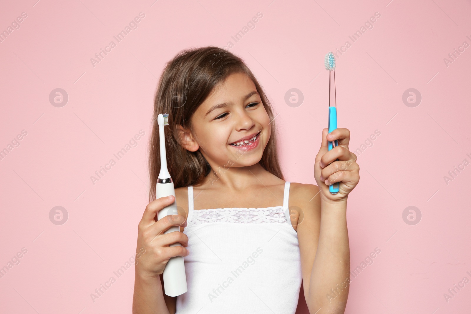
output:
M193 209L188 186L188 291L176 314L294 314L301 286L298 234L283 206Z

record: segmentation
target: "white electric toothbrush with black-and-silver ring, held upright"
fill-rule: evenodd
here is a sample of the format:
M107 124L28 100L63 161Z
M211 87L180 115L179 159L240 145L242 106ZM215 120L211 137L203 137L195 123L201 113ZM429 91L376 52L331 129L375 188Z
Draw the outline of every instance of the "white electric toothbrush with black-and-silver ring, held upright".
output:
M160 136L160 173L157 178L157 185L155 188L155 197L161 198L169 195L175 197L175 187L173 180L170 176L169 170L167 169L167 155L165 153L165 137L164 137L164 126L169 125L168 113L159 114L157 116L157 123L159 124L159 136ZM157 220L162 219L167 215L178 214L177 211L177 198L175 201L157 213ZM168 230L164 231L164 234L171 233L173 231L180 231L180 226L171 226ZM180 243L173 243L169 246L181 246ZM165 265L163 270L163 285L165 294L170 297L179 296L187 292L187 277L185 273L185 263L183 256L176 256L170 258Z

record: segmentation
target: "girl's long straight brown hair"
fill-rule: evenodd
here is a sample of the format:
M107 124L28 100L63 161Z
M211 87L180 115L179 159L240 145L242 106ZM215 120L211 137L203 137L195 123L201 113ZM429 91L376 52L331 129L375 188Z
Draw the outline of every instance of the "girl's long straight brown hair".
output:
M165 127L165 148L167 167L175 188L203 183L211 167L199 150L190 152L179 144L176 125L192 130L190 119L198 106L219 83L237 72L243 72L252 79L271 121L271 136L259 163L268 172L284 180L276 149L273 108L252 71L240 57L219 47L187 48L167 62L154 97L152 135L149 139L149 201L155 200L155 184L160 172L157 116L169 113L169 126Z

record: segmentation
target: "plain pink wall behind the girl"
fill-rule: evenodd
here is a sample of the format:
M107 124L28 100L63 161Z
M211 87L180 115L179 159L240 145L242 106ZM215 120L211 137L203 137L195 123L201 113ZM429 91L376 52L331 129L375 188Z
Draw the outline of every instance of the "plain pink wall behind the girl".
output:
M0 150L27 135L0 160L0 267L27 253L0 278L0 312L130 313L134 267L95 302L90 294L135 253L154 91L181 49L232 41L279 114L286 179L315 184L328 113L324 56L348 40L335 71L338 124L351 131L350 151L370 143L357 153L361 179L349 197L351 269L381 253L352 280L345 313L464 313L471 283L448 302L444 293L471 280L471 166L448 183L444 176L471 161L471 48L448 66L444 58L471 44L471 4L389 1L4 3L0 31L27 17L0 43ZM93 66L139 12L138 28ZM255 28L235 42L257 12ZM375 12L373 28L352 43ZM57 88L69 97L63 107L49 102ZM301 105L285 102L292 88ZM420 105L402 101L409 88ZM137 146L93 184L139 130ZM368 142L375 130L381 135ZM68 213L63 225L49 219L55 206ZM420 223L403 220L408 206L421 211Z

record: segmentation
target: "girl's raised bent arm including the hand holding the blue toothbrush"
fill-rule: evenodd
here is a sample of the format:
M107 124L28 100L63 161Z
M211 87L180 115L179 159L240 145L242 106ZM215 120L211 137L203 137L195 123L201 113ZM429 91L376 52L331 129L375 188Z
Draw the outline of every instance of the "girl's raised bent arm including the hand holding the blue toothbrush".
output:
M357 155L349 151L349 129L327 134L324 129L314 164L317 186L305 185L298 195L305 216L298 225L298 240L309 312L343 314L350 283L347 198L358 184L360 168ZM328 141L334 140L338 146L329 151ZM339 182L339 192L332 194L329 185L335 182Z

